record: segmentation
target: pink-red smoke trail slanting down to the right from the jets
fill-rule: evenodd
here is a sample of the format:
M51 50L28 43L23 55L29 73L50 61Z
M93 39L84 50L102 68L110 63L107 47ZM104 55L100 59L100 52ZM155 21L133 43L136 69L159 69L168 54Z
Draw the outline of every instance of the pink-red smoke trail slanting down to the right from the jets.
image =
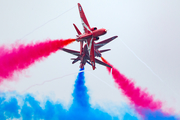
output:
M109 64L104 58L102 61ZM111 65L111 64L109 64ZM111 65L112 66L112 65ZM108 68L109 73L111 68ZM118 87L122 89L124 95L135 104L135 106L140 106L143 108L158 110L161 108L162 103L160 101L154 101L153 96L149 95L147 92L143 91L140 87L135 87L135 83L126 78L121 74L116 68L112 66L112 76L117 83Z

